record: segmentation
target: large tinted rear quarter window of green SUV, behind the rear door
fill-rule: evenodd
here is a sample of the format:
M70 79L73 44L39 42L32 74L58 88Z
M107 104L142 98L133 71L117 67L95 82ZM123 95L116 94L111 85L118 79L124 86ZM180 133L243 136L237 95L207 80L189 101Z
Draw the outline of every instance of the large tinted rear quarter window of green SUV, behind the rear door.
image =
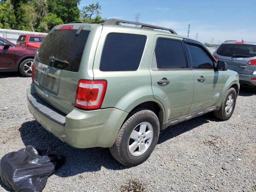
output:
M100 60L101 71L136 71L146 44L146 36L108 34Z

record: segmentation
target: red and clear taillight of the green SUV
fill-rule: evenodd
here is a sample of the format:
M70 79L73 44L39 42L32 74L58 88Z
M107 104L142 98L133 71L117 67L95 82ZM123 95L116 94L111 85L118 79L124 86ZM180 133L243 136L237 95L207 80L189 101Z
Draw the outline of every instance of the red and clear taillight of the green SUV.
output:
M106 88L106 80L79 80L76 90L75 106L82 109L100 108Z

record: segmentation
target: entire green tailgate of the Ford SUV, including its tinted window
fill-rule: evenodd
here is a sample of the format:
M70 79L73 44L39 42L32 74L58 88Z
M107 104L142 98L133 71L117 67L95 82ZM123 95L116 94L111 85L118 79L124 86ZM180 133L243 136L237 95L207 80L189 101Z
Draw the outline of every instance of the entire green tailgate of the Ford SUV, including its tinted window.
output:
M84 78L79 69L90 30L81 30L81 24L66 26L58 26L42 42L35 56L34 88L40 98L68 114L74 108L78 80Z

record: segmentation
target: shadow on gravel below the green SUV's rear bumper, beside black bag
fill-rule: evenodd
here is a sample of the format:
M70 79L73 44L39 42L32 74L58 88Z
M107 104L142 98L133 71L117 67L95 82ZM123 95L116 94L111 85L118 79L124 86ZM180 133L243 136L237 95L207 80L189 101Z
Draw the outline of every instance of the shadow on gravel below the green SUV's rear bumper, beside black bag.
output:
M32 145L38 149L50 146L58 154L66 156L64 166L54 173L60 177L74 176L84 172L96 172L101 170L102 167L110 170L128 168L118 163L111 156L108 148L73 148L46 131L36 120L24 122L19 131L25 146Z

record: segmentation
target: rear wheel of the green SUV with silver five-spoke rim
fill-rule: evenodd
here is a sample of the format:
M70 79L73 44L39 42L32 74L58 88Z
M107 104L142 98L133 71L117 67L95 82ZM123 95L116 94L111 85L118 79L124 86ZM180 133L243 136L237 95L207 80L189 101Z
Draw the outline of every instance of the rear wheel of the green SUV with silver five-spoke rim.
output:
M125 166L141 164L154 150L159 132L156 114L146 108L139 108L124 122L110 152Z

